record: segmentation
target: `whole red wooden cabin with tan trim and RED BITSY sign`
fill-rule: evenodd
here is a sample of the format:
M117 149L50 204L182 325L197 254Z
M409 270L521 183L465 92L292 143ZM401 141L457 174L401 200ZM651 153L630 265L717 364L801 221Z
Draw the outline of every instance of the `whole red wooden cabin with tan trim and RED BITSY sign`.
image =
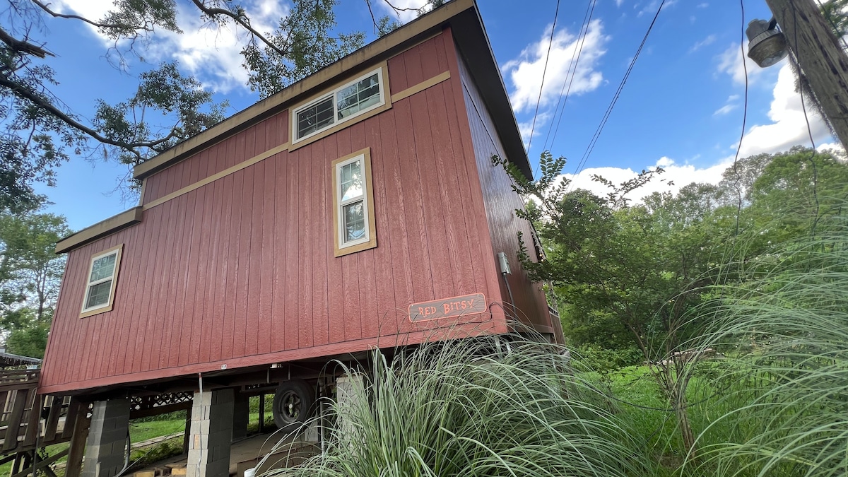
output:
M309 377L514 314L560 341L493 154L532 174L477 6L455 0L137 166L140 205L57 246L40 392Z

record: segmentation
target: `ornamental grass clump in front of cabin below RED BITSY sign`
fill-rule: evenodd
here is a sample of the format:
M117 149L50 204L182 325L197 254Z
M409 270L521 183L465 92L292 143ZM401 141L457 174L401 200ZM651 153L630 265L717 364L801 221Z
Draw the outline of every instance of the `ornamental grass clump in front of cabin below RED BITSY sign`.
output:
M374 351L366 373L344 368L362 379L330 403L337 425L325 451L285 474L650 474L643 446L594 384L569 372L561 347L508 338L431 343L391 360Z

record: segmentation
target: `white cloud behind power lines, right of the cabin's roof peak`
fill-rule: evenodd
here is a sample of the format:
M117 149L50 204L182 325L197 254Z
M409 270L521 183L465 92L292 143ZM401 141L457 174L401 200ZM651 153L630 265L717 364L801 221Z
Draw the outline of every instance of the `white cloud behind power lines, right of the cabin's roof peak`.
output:
M572 76L572 94L588 93L600 87L604 76L596 70L596 67L600 57L606 53L604 49L606 42L610 40L609 36L604 35L603 30L600 20L592 20L589 24L589 30L583 41L583 51L580 53L580 60L575 70L572 58L577 58L580 38L566 30L561 30L555 33L553 42L550 42L550 26L548 26L538 42L524 48L518 59L510 60L502 67L504 76L510 79L514 87L510 94L512 107L516 111L535 108L543 71L544 88L541 99L543 105L559 98L563 83L566 80L571 81ZM550 57L547 70L545 70L549 42Z

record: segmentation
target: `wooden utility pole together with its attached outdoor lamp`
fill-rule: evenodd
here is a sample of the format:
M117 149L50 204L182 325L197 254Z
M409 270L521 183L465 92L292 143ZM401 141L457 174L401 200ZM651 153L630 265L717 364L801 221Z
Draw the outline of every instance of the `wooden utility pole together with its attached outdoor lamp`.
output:
M774 18L754 20L745 34L748 56L774 65L792 53L831 130L848 149L848 56L816 0L766 0ZM780 25L780 31L776 26Z

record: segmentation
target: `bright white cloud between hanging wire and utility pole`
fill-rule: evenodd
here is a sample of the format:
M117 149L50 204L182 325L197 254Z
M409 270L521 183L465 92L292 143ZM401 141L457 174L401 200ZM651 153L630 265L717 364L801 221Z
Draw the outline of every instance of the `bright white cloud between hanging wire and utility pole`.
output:
M805 101L802 107L801 94L795 92L795 74L789 65L784 65L778 73L768 119L772 121L770 124L752 126L745 133L739 157L775 153L798 144L809 146L810 132L817 143L830 137L828 127L812 104ZM807 121L810 124L810 132L807 131ZM736 144L732 148L736 149Z

